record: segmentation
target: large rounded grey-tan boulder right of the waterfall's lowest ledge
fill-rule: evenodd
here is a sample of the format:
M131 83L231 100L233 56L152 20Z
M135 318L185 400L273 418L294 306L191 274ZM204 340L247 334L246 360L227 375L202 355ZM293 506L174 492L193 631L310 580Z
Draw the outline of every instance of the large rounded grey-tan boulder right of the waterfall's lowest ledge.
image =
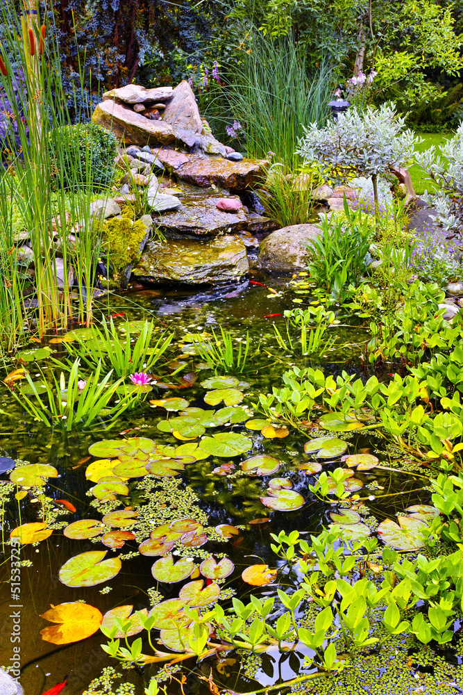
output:
M314 224L293 224L272 231L260 244L257 267L263 270L303 270L310 261L310 239L321 229Z

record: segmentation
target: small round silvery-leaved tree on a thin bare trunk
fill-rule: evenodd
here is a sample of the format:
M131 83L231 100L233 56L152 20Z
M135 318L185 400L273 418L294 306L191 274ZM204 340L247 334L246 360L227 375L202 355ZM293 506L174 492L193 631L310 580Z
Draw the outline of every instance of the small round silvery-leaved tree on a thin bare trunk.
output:
M324 128L310 124L296 154L340 174L371 177L378 210L378 175L391 172L398 176L398 170L414 154L415 144L414 133L405 129L394 105L382 104L364 111L349 108Z

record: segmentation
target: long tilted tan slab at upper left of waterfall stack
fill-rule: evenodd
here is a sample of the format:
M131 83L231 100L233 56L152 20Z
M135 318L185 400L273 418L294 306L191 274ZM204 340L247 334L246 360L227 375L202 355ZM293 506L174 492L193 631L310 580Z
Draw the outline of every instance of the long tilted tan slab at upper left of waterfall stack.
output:
M124 88L123 88L124 89ZM96 106L92 122L115 133L121 140L125 138L135 145L169 145L175 142L174 129L164 121L151 121L131 108L113 101L102 101Z

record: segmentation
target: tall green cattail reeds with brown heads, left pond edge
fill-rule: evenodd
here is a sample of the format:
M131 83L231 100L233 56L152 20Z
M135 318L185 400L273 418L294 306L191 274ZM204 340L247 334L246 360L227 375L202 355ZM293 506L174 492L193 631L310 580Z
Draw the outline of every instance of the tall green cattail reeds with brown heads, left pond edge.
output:
M1 227L10 226L15 207L30 234L35 271L34 322L40 336L51 328L66 328L70 318L90 324L100 243L90 221L91 148L83 147L80 158L70 164L65 156L72 135L71 129L63 127L71 124L69 95L60 79L56 32L46 19L51 14L45 13L43 40L35 15L17 15L12 3L3 3L0 10L1 56L6 68L6 74L0 73L0 83L10 101L11 120L17 126L17 133L10 129L6 139L10 161L3 178L12 178L12 184L9 210L8 206L0 210ZM15 79L18 66L24 79ZM69 190L75 195L69 195ZM73 275L74 293L69 286ZM77 297L75 307L73 296ZM19 287L14 303L18 315ZM5 309L6 296L0 293L0 317Z

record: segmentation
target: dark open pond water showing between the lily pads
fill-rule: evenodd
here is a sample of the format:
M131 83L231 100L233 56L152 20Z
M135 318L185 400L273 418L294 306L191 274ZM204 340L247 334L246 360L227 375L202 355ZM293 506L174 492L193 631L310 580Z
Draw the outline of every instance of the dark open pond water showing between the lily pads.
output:
M265 285L271 286L273 291L269 291ZM230 330L235 338L244 339L246 332L249 331L252 357L248 360L244 373L236 376L249 383L249 386L243 387L245 397L242 405L252 408L251 404L258 402L260 393L269 393L272 386L281 385L283 372L290 365L321 366L326 373L333 374L340 373L344 369L348 373L362 372L362 363L358 356L362 352L362 345L367 340L367 332L362 327L362 320L357 317L338 317L339 325L330 329L337 342L318 359L308 361L294 354L286 354L278 346L273 333L273 322L276 322L280 328L283 327L282 314L285 309L306 306L311 300L313 297L305 290L296 289L295 291L294 287L290 286L288 278L269 280L268 277L253 275L253 281L245 281L239 286L204 289L194 294L180 288L126 293L113 297L107 305L102 305L101 313L116 315L115 322L151 317L160 330L174 332L176 343L181 345L188 344L192 334L203 332L210 334L211 329L219 331L219 327ZM200 382L212 376L213 372L210 369L198 370L197 365L201 359L181 352L181 345L174 347L171 359L185 360L185 368L180 375L195 369L199 373L198 381L194 386L182 391L166 392L155 389L153 395L150 394L150 398L180 395L181 398L188 400L190 407L210 409L203 400L207 389L201 386ZM53 357L62 359L65 356L65 347L53 344L53 348L56 350ZM45 363L40 364L44 366ZM29 369L31 374L39 374L35 366L29 366ZM220 371L217 373L220 375ZM168 372L164 370L162 374L167 375ZM368 376L366 372L364 375ZM223 407L223 404L217 407ZM161 432L158 429L157 424L166 417L166 412L159 407L152 409L144 407L124 414L110 434L72 432L67 435L60 432L53 433L45 427L40 427L39 423L34 423L27 429L22 425L18 428L17 423L23 420L22 413L8 391L3 393L0 408L2 411L0 416L1 455L31 463L49 464L57 468L58 477L50 478L42 488L42 493L51 500L68 500L76 507L76 512L69 512L49 502L49 508L53 509L54 515L53 518L50 517L51 521L62 522L62 528L79 519L99 520L103 512L108 509L103 505L100 511L99 507L92 505L94 498L91 493L88 493L93 483L86 480L85 469L93 460L88 454L88 448L92 443L101 439L143 436L155 439L162 445L178 446L180 444L171 433ZM172 415L176 416L175 413ZM255 415L255 417L258 416L258 414ZM250 594L260 598L273 596L278 587L283 590L294 587L294 577L287 565L272 552L271 534L278 534L280 530L289 532L297 529L303 537L308 538L310 534L320 532L323 525L330 523L329 512L332 511L332 505L321 502L310 493L308 485L313 484L314 476L298 470L298 466L310 460L310 457L303 452L303 445L308 441L308 436L319 436L323 432L318 434L311 432L306 435L289 427L289 436L284 439L267 439L259 431L246 429L244 423L238 423L232 427L221 427L219 431L233 431L249 437L252 441L252 450L233 458L219 458L212 455L207 459L196 460L185 465L185 471L180 476L155 479L157 481L155 484L151 487L146 486L148 491L144 493L144 496L140 489L140 480L143 479L131 480L129 500L125 500L124 504L135 511L144 510L144 516L142 516L146 528L149 528L149 523L153 523L154 527L162 523L163 519L171 521L171 518L176 516L178 518L185 516L195 518L195 515L199 518L200 516L204 520L204 525L210 530L208 543L201 548L180 548L177 552L184 557L195 556L196 562L201 562L201 558L211 553L214 553L217 558L221 555L230 557L235 564L235 571L220 584L225 596L230 596L231 590L235 591L237 598L244 601ZM207 434L210 433L207 432ZM340 436L348 442L349 453L369 452L380 459L381 468L355 474L355 477L364 485L358 496L369 509L364 516L366 523L374 522L374 519L373 522L371 521L371 515L376 522L379 522L388 517L394 518L396 511L403 510L407 505L426 503L429 500L427 481L422 473L398 471L396 464L400 457L403 459L403 455L400 451L385 445L385 441L378 432L375 430L346 432ZM262 454L276 457L280 461L278 476L289 477L293 484L292 489L303 496L305 504L301 509L294 512L278 512L262 505L260 497L266 494L265 490L271 476L242 475L239 469L239 461ZM223 476L212 473L214 468L230 461L233 461L236 466L232 473ZM339 461L328 463L325 468L334 469L337 465ZM4 473L1 477L8 480L8 473ZM42 506L41 501L30 494L19 501L12 498L11 494L8 496L4 494L3 538L8 539L12 528L19 524L40 521L41 512L37 514L37 509ZM137 506L139 503L140 507ZM173 517L169 510L175 506L176 512ZM256 520L258 520L257 523L251 523ZM237 526L239 534L231 539L221 539L213 531L214 527L220 524ZM121 550L109 550L98 540L92 542L89 539L69 539L62 534L62 528L54 530L51 537L40 543L22 546L21 557L23 560L30 561L30 566L21 568L21 600L20 603L17 602L20 607L16 605L13 608L10 607L10 589L6 583L10 576L9 563L4 561L0 569L2 582L0 665L8 665L12 656L10 612L20 610L22 667L20 681L27 695L41 695L47 689L62 682L65 676L68 676L68 683L63 690L63 695L81 695L92 678L99 676L103 667L110 664L117 667L117 662L110 660L101 650L100 644L106 643L107 640L99 631L92 637L62 646L43 641L40 630L49 626L50 623L47 623L40 615L46 612L50 605L78 600L97 607L103 614L118 605L133 605L134 610L149 610L153 591L160 591L164 599L174 598L178 596L179 587L182 585L158 584L153 580L151 566L158 557L140 555L137 552L138 541L129 540ZM89 550L101 549L108 550L106 557L132 553L133 557L123 559L122 569L117 576L102 584L71 588L60 582L58 572L70 557ZM8 548L3 546L3 550L6 553L5 557L8 558ZM252 564L268 564L271 568L279 568L278 584L252 587L244 583L241 578L242 571ZM229 603L229 600L224 600L224 607L228 607ZM140 635L144 639L143 651L149 653L144 635L146 633ZM389 659L389 663L386 665L380 662L378 655L371 655L366 661L357 664L354 679L357 685L342 686L339 682L338 692L369 692L383 695L392 695L393 692L444 693L449 692L446 685L449 681L461 682L460 667L451 664L451 662L460 663L460 657L455 651L450 659L445 659L444 653L438 655L440 671L434 670L437 669L435 664L426 671L425 664L420 671L423 674L422 678L425 679L423 681L414 680L414 676L410 678L407 676L407 658L412 657L406 656L406 648L403 654L405 656L401 655L403 669L400 674L394 671L397 669L395 659L391 660L391 657L387 657L387 653L384 658L386 662ZM222 656L221 660L213 658L199 664L190 659L175 672L177 680L167 679L165 683L169 684L167 686L169 695L180 695L182 692L188 695L207 695L213 692L207 682L212 669L214 683L219 688L218 692L222 689L230 689L237 693L248 693L267 685L274 685L280 680L300 676L301 673L305 673L303 661L304 650L283 654L278 653L278 650L270 650L262 658L251 656L243 659L242 654L233 652L228 657ZM426 659L423 662L426 662ZM159 666L155 664L144 669L128 669L121 673L123 673L123 681L133 683L137 695L142 695L149 676L154 675L158 670ZM172 670L175 671L175 669ZM307 672L310 672L310 669ZM391 689L393 687L389 685L391 681L384 679L384 685L379 686L378 679L385 673L389 673L388 678L402 679L402 689ZM182 676L185 677L185 682L182 682ZM203 680L198 676L203 676ZM115 687L119 682L115 681ZM310 683L310 681L304 683L297 692L328 692L327 685L322 686L317 683L317 686L313 686ZM432 684L432 690L426 689L430 684ZM423 686L424 689L414 690L414 685ZM463 692L463 689L460 692Z

